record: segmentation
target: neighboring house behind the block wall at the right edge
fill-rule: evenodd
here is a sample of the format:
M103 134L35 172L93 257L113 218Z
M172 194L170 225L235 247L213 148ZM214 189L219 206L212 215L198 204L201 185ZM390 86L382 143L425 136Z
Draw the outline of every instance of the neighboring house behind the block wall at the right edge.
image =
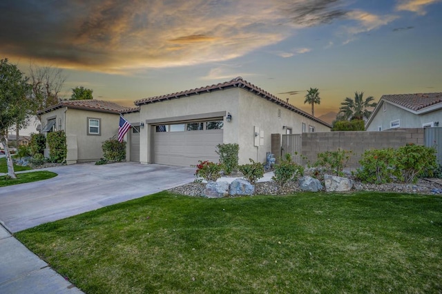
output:
M442 123L442 92L383 95L365 130L425 128Z

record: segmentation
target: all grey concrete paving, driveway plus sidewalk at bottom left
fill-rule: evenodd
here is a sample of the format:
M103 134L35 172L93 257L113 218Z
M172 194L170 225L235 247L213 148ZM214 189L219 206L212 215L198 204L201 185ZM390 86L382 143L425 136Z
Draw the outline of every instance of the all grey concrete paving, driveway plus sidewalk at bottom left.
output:
M81 293L11 233L192 182L194 168L124 162L46 168L58 176L0 188L0 293Z

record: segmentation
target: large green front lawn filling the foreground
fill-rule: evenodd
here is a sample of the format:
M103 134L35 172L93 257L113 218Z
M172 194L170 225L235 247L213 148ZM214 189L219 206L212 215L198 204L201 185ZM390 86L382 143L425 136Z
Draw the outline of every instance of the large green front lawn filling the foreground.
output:
M442 197L167 192L16 237L86 293L441 293Z

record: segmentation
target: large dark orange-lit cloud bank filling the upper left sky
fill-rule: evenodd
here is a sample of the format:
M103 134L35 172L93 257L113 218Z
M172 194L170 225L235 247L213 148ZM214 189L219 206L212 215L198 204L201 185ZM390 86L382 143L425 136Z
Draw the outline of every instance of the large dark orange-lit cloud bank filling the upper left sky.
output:
M1 0L0 56L104 72L225 61L345 16L340 3Z

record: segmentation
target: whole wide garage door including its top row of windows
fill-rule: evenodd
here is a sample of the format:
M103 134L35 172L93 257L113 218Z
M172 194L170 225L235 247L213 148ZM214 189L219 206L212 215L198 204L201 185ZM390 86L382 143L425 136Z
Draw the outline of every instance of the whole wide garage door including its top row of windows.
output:
M157 125L153 161L171 166L195 166L198 160L218 162L215 150L222 144L222 127L222 120Z

